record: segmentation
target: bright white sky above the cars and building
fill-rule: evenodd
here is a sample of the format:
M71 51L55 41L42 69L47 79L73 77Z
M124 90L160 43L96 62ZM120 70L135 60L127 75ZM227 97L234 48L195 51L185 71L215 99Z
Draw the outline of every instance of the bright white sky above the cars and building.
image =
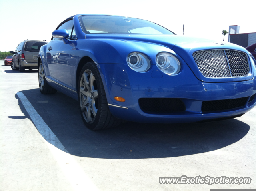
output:
M184 24L184 36L223 41L229 25L256 32L255 12L255 0L0 0L0 51L14 51L26 39L49 42L56 27L75 14L141 18L178 35Z

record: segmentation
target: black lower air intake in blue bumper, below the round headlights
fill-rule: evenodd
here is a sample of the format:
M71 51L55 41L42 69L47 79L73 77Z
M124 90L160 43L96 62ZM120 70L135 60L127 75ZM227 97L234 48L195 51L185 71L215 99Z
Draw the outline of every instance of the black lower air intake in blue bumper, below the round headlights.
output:
M177 98L140 98L139 105L145 113L176 113L186 110Z

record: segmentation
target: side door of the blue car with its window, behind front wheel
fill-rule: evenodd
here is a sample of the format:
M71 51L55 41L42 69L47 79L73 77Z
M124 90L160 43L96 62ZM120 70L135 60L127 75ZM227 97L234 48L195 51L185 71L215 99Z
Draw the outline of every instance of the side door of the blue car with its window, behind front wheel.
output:
M58 29L66 29L71 34L72 27L73 20L69 20L59 26ZM70 39L70 36L68 39ZM62 39L58 38L52 38L49 46L46 54L50 53L51 58L54 56L51 64L48 65L52 74L52 80L72 90L72 78L70 74L70 50L72 46L64 44ZM47 57L47 59L50 59L50 57ZM50 60L47 60L47 62L50 63Z

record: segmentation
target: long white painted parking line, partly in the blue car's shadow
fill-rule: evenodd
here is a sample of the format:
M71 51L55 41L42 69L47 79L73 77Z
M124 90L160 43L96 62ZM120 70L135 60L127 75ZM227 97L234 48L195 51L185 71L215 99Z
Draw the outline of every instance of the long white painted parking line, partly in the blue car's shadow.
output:
M60 140L54 135L52 130L46 125L42 117L36 112L34 107L28 101L22 92L17 93L34 125L44 137L52 155L62 168L62 171L72 184L75 190L98 190L91 179L84 173L81 167L76 163L72 155L64 148Z

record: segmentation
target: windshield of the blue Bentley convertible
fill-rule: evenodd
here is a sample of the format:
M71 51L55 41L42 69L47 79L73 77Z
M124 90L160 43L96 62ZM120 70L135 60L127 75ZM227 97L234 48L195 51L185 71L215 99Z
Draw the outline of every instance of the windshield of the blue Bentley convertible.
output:
M79 17L86 34L127 33L127 34L174 34L153 22L121 16L83 15Z

